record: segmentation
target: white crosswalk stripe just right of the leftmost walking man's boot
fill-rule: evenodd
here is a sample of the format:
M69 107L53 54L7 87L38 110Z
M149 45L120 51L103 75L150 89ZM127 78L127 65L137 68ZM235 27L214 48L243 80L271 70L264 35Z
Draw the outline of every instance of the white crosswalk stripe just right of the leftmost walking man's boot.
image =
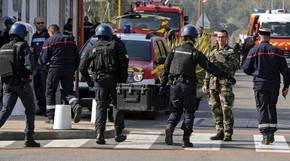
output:
M43 147L50 148L50 147L81 147L85 143L87 143L89 139L69 139L69 140L52 140L48 144L44 145Z

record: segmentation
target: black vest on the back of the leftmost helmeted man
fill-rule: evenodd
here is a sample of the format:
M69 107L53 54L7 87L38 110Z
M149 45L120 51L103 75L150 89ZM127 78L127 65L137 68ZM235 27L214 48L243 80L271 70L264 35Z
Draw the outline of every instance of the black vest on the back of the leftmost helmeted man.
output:
M15 44L7 43L0 48L0 77L9 77L15 75L14 67L18 66L17 53L20 51L24 42Z

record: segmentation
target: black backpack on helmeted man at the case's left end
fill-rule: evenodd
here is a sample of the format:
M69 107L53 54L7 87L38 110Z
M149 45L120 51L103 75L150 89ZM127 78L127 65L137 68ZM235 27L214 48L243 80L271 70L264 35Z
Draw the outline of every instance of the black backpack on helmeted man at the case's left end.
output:
M118 77L118 55L115 50L114 41L99 41L94 49L95 81L103 87L114 87Z

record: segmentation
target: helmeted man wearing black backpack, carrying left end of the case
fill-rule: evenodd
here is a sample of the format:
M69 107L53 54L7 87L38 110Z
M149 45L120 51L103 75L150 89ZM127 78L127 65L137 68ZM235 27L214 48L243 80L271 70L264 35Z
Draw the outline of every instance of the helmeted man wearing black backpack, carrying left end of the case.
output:
M93 52L86 53L80 64L80 72L90 87L95 88L97 101L96 143L105 144L105 128L107 109L111 98L116 99L117 83L125 83L128 77L128 56L125 45L113 39L113 30L108 24L100 24L96 28L98 40ZM92 66L93 80L88 68ZM115 101L116 102L116 101ZM126 136L122 134L125 128L124 116L116 107L114 111L115 141L123 142Z

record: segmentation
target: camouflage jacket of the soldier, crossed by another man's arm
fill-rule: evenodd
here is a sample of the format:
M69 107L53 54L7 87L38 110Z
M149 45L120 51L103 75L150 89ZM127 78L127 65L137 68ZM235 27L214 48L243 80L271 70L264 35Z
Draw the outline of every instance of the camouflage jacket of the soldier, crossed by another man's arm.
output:
M216 59L217 54L222 54L225 58L225 62L219 62ZM227 46L224 49L214 49L208 56L210 62L214 63L220 69L223 69L230 73L232 76L235 75L236 70L239 69L239 57L236 53L234 53L234 49ZM206 73L204 79L204 85L208 87L208 89L217 89L223 87L232 87L232 83L226 79L219 79L214 75Z

